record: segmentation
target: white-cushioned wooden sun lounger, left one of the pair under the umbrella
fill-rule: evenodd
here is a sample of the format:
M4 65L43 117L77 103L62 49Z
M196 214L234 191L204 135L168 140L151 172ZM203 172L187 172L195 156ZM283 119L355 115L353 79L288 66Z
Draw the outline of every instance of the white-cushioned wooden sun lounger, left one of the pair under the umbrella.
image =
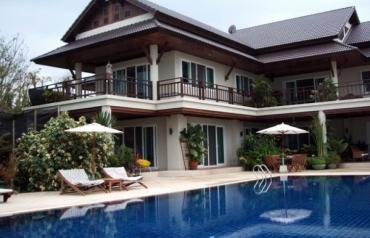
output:
M60 194L78 192L85 195L86 192L105 191L104 180L90 180L83 169L59 170L58 176L61 179Z

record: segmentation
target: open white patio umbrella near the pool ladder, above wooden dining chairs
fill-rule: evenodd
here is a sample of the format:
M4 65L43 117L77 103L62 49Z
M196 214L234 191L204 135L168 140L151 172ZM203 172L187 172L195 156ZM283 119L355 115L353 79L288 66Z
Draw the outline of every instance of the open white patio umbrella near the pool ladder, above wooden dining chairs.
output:
M257 131L258 134L265 134L265 135L281 135L281 150L283 153L282 165L284 165L284 135L298 135L298 134L305 134L309 133L306 130L289 126L287 124L281 123L279 125Z

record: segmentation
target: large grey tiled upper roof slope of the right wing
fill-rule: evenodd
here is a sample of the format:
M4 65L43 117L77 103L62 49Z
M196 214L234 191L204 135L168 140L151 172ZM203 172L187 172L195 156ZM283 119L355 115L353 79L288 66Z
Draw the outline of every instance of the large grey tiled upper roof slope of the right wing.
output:
M255 49L334 37L354 12L354 7L342 8L245 28L232 35Z

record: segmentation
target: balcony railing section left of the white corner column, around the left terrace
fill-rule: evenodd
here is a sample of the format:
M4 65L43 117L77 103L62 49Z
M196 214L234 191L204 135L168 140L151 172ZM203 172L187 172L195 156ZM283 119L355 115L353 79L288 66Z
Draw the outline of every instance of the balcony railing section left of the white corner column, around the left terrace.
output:
M29 97L32 105L41 105L106 94L152 100L152 92L150 81L130 78L113 80L106 75L95 75L32 88L29 89Z

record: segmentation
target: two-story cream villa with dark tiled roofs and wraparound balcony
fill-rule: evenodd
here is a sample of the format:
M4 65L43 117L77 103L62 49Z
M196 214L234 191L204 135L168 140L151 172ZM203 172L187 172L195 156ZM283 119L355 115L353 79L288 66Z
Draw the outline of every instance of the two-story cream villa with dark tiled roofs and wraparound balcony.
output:
M92 0L62 40L33 61L68 69L73 80L38 88L59 97L25 110L109 112L122 143L158 170L184 169L187 123L207 135L204 167L237 165L246 133L281 121L307 127L317 112L338 137L370 142L370 22L354 7L225 33L146 0ZM261 75L273 107L253 106Z

